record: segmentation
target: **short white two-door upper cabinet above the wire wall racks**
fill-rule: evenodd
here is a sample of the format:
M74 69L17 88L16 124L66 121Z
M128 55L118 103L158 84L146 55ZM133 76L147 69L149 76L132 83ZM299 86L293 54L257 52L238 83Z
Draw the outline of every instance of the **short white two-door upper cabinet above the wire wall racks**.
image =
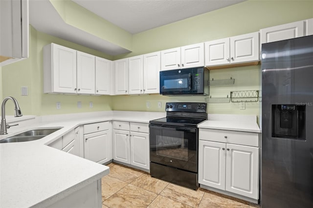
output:
M205 66L259 61L259 32L204 43Z

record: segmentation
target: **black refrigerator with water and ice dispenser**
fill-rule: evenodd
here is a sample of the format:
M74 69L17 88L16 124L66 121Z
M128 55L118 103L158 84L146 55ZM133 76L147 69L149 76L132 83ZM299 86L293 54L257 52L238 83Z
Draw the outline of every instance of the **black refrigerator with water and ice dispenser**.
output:
M261 54L261 207L313 208L313 36Z

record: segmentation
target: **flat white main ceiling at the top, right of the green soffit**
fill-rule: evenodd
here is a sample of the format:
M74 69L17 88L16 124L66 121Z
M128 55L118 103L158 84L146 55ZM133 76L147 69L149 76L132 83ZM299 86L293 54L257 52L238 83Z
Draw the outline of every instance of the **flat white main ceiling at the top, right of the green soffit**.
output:
M73 0L135 34L245 0Z

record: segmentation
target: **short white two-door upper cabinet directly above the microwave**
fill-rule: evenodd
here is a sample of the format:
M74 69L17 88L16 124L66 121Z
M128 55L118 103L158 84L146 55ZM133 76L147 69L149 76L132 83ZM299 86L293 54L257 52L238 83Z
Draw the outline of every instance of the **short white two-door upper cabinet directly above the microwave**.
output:
M161 51L161 70L204 66L204 45L186 45Z

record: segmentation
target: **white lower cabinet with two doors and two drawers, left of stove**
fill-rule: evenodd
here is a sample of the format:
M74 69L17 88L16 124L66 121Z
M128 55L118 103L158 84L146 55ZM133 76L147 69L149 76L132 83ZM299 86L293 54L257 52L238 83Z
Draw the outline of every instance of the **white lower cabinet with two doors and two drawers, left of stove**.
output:
M149 125L113 121L113 160L149 170Z

